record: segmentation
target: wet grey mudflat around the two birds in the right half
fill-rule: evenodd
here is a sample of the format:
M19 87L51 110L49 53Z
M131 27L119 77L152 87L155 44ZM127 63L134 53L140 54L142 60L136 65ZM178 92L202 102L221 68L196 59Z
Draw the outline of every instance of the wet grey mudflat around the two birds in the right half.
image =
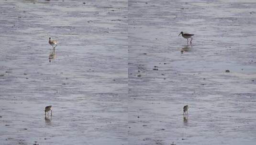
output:
M129 145L254 145L255 1L129 0L128 8ZM195 34L192 46L180 31Z

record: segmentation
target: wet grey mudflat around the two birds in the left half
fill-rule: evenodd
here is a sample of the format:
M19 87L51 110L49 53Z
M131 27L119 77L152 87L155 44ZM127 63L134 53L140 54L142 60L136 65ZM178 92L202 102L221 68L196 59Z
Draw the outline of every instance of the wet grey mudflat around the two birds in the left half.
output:
M0 0L1 145L127 145L127 15L126 0Z

